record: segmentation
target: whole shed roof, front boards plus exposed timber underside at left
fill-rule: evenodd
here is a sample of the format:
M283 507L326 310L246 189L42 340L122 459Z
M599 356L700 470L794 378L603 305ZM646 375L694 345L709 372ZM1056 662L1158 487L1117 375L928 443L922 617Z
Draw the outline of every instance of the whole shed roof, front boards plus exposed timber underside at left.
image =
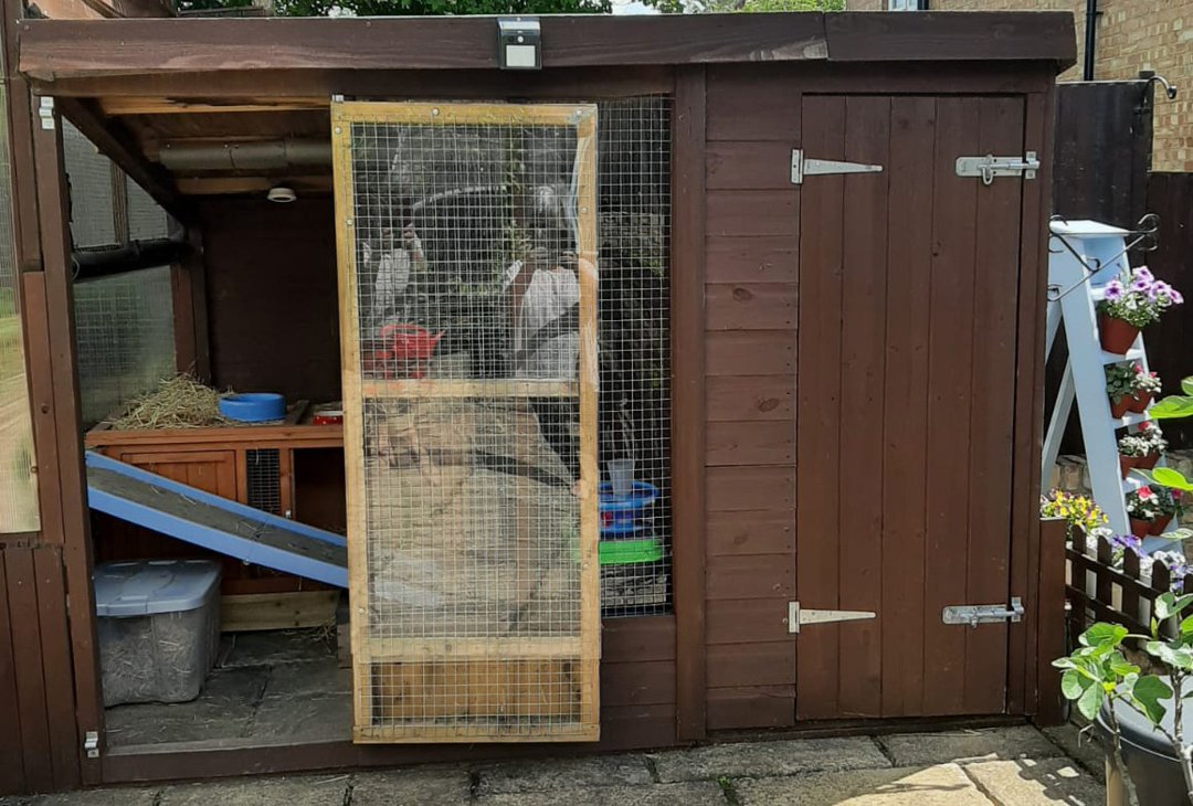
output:
M858 89L891 66L946 78L1045 76L1076 57L1059 12L546 16L542 72L497 69L486 17L21 20L19 70L167 204L285 180L326 192L329 165L163 168L180 145L323 140L332 94L358 98L595 98L668 92L675 67L803 64ZM941 72L947 62L953 69ZM876 70L874 63L885 64ZM853 76L853 78L851 78ZM1008 87L1009 91L1009 87ZM428 94L429 93L429 94ZM463 93L463 94L460 94ZM178 151L175 150L174 154ZM169 206L167 204L167 206Z

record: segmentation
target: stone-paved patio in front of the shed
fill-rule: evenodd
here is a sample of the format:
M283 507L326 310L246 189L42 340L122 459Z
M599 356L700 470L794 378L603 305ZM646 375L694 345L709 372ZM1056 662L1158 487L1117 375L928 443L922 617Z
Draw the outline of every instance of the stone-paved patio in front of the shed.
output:
M657 754L236 779L0 806L1034 806L1104 802L1071 726L716 744Z

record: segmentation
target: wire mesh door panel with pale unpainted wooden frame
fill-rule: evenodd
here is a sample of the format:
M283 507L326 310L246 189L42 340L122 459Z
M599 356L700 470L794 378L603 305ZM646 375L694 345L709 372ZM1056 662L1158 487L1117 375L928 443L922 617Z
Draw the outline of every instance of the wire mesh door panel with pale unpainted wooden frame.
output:
M332 126L354 739L595 740L596 110Z

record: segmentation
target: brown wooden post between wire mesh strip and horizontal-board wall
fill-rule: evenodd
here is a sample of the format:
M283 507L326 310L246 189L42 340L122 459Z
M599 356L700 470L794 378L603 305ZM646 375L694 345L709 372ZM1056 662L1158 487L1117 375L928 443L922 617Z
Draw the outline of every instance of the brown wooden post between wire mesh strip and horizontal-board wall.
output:
M682 68L672 125L672 601L675 731L706 733L704 616L705 70Z

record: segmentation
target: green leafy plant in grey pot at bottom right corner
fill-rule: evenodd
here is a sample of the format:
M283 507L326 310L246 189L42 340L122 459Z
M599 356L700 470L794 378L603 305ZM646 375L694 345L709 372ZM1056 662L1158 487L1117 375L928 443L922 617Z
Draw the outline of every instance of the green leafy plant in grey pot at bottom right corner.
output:
M1099 622L1078 646L1052 665L1061 692L1106 739L1107 804L1174 806L1193 802L1193 746L1185 738L1185 705L1193 698L1193 618L1182 610L1193 595L1161 594L1148 634ZM1127 661L1135 640L1167 675L1143 674Z

